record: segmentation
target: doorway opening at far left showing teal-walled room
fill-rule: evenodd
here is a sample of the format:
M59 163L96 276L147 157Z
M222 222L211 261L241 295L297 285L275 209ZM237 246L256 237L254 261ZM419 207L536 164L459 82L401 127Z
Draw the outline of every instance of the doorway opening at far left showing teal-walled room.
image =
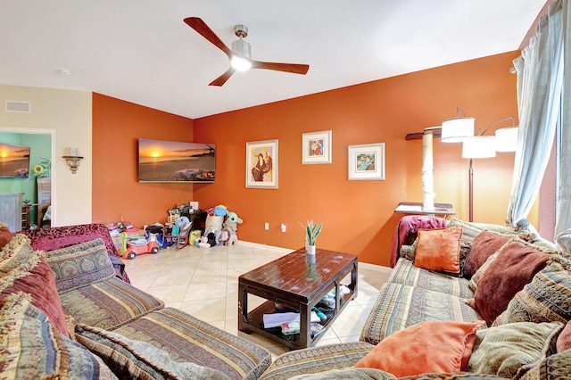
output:
M44 129L0 128L0 172L15 173L0 177L0 193L21 195L13 198L20 206L0 206L0 220L10 219L15 229L52 224L53 134Z

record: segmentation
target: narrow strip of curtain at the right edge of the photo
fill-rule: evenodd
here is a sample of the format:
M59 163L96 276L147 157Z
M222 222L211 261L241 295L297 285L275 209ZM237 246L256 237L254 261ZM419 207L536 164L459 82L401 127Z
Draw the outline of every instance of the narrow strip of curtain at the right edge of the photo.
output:
M558 194L555 242L571 252L571 13L569 2L563 2L563 95L559 132Z

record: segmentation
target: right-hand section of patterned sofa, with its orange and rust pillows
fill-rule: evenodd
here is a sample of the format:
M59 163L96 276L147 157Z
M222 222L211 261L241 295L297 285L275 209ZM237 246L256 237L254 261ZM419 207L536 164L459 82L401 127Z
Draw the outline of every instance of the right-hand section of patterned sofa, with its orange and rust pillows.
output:
M395 233L360 342L286 352L261 379L571 378L569 256L510 227L442 225Z

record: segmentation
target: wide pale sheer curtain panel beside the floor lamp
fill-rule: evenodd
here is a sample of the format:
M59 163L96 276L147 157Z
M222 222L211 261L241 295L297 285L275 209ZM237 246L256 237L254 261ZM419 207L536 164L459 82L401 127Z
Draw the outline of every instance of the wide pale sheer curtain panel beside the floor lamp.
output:
M564 3L568 0L550 4L548 14L540 20L537 35L514 60L519 133L507 217L512 226L529 224L526 218L539 192L559 120Z

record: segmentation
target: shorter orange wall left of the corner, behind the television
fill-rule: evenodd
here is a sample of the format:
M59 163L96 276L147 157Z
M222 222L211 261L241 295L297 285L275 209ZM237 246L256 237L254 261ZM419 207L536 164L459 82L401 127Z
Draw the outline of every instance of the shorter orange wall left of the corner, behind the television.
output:
M191 184L138 183L138 138L193 141L193 120L93 94L93 222L164 223Z

